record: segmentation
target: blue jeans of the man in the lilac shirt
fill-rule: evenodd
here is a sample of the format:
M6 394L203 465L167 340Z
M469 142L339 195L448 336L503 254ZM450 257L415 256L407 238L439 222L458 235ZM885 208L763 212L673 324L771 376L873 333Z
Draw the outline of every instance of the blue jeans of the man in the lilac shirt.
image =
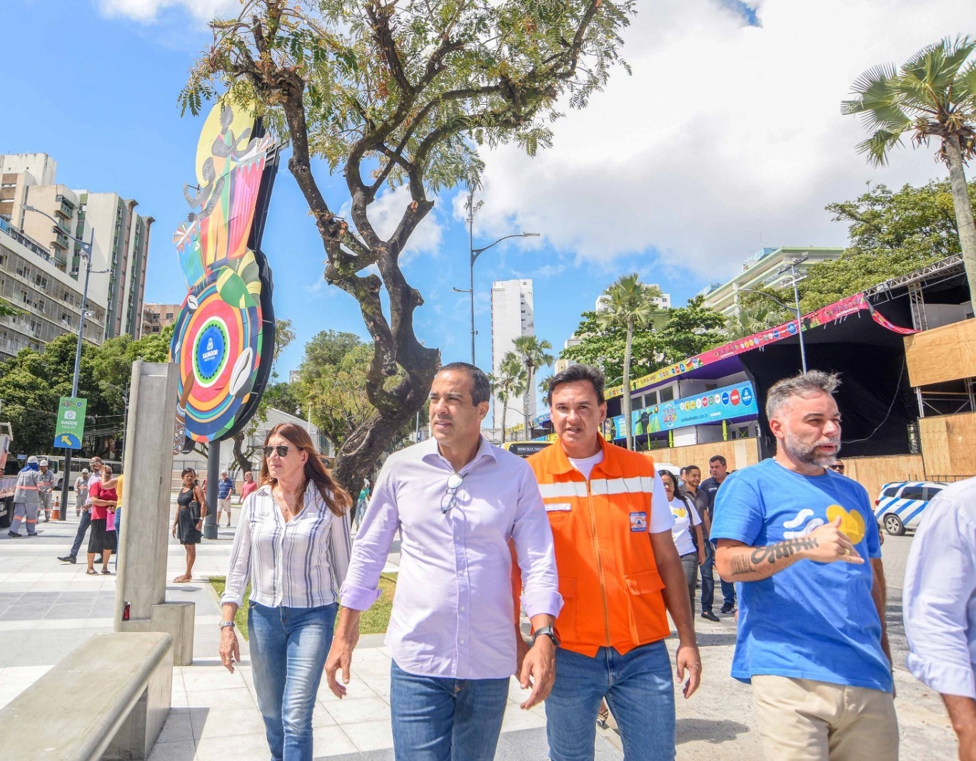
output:
M492 761L508 679L450 679L389 669L396 761Z

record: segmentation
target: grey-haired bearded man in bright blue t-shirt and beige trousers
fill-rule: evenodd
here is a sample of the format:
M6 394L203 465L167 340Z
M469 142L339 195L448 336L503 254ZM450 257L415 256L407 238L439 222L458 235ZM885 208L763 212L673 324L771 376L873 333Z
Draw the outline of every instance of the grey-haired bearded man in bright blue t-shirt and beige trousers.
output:
M835 375L775 384L776 456L727 478L712 521L715 567L739 583L732 676L752 681L766 758L898 757L877 523L840 450Z

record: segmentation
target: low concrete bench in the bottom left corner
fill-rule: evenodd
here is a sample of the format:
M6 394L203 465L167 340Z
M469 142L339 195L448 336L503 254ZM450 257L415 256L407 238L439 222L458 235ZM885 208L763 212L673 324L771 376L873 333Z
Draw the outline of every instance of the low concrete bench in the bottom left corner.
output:
M173 637L94 634L0 709L0 757L144 759L173 697Z

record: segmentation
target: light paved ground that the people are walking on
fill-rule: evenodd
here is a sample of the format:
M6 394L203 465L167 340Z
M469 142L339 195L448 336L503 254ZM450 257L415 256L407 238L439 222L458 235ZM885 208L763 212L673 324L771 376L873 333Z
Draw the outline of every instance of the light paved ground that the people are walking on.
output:
M88 636L112 628L115 577L86 576L81 558L77 565L56 559L67 552L74 537L77 519L73 511L69 513L64 523L39 524L42 534L36 539L9 539L6 531L0 532L0 639L7 645L0 648L0 705L13 700ZM234 520L237 514L235 510ZM228 673L217 655L217 596L202 581L225 574L232 536L232 529L222 528L218 540L199 546L192 583L167 586L168 598L196 603L194 659L193 666L174 669L173 709L151 761L267 759L247 646L242 643L244 663L234 674ZM939 697L902 667L905 644L900 588L910 545L910 537L888 537L884 547L902 753L914 759L954 758L956 742ZM171 540L168 579L182 573L183 558L183 548ZM387 569L395 570L398 559L392 554ZM681 761L762 757L752 718L751 688L728 675L735 623L731 616L721 618L717 624L696 618L704 677L701 690L691 700L685 701L676 691L677 758ZM673 637L669 646L673 652ZM389 654L382 635L361 639L348 689L342 702L324 683L319 690L313 719L316 759L391 759ZM521 690L512 680L497 755L500 761L547 758L545 710L539 706L523 711L518 707L522 700ZM600 731L597 760L619 761L622 757L620 738L612 726Z

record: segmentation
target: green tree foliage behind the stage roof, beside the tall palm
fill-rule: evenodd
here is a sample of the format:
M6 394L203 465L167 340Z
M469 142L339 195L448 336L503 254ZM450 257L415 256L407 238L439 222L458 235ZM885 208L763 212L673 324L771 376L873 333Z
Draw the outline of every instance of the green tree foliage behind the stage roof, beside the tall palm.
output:
M976 182L969 184L976 199ZM976 210L976 203L970 202ZM800 308L812 312L927 263L959 253L953 195L948 180L875 185L854 201L831 204L834 220L850 222L850 247L835 261L810 267L799 284Z

